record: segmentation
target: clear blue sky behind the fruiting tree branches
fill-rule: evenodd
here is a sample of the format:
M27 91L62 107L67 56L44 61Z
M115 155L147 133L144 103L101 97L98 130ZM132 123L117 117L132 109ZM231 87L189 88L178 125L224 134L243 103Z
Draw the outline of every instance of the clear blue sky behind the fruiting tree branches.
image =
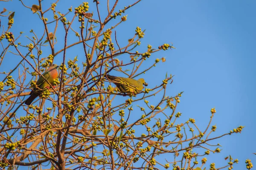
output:
M129 1L120 1L120 7L129 5ZM17 24L26 14L19 14L21 6L13 6L14 3L18 1L4 6L16 11ZM77 0L73 7L81 3ZM121 44L131 38L137 26L146 29L138 51L145 50L148 44L157 48L163 43L173 43L177 48L152 55L152 59L166 57L166 62L159 63L159 67L144 78L149 88L153 88L162 82L166 72L175 75L168 93L173 96L184 91L177 108L183 113L182 119L194 118L204 129L209 122L210 109L215 107L217 113L212 123L217 125L217 130L212 136L245 126L241 134L215 141L223 146L221 153L208 157L216 167L226 165L224 157L229 155L240 161L234 165L235 170L245 169L246 159L251 159L256 166L256 155L252 154L256 152L253 123L256 120L255 9L255 0L142 0L125 13L128 20L116 29ZM23 31L22 28L27 29L26 32L31 29L25 23L14 28L17 32ZM36 29L40 28L34 26ZM71 52L82 54L78 50Z

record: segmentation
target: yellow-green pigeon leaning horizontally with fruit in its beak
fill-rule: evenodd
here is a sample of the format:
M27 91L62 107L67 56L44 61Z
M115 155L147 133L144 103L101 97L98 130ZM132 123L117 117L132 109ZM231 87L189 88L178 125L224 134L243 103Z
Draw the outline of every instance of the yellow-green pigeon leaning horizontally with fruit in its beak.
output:
M145 82L144 79L131 79L125 77L116 77L111 75L105 76L110 82L113 82L117 88L123 93L127 94L135 94L143 89L143 85L147 86L148 83Z

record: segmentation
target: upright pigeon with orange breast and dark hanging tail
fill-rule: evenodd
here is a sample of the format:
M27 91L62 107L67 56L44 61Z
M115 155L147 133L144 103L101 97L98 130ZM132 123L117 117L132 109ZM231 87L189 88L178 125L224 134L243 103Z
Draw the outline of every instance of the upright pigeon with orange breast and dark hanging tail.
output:
M56 64L52 64L49 66L49 68L47 69L47 71L45 71L42 75L39 77L38 81L36 82L36 87L33 88L33 90L30 92L30 96L28 99L26 99L25 104L26 105L30 105L33 100L35 100L35 98L42 93L42 91L44 90L44 88L50 88L49 83L51 85L53 85L54 79L56 79L58 77L58 71L57 71L58 65ZM47 81L45 81L45 79L47 79Z

